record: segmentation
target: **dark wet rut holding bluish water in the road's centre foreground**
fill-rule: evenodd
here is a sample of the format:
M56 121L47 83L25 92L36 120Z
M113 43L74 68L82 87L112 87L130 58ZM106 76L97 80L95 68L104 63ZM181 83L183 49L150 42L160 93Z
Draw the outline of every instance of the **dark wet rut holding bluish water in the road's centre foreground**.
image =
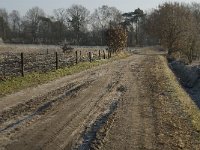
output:
M85 130L82 136L82 143L74 150L89 150L91 148L92 142L96 139L96 134L101 129L101 127L108 121L109 116L117 109L118 100L114 100L109 109L104 112L104 114L98 118L88 129Z

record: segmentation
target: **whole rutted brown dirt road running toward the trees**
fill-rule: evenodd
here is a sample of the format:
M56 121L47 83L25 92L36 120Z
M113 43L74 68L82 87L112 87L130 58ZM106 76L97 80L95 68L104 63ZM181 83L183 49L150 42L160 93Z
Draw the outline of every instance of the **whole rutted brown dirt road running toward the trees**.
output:
M133 54L1 98L0 149L200 149L189 115L159 87L158 57Z

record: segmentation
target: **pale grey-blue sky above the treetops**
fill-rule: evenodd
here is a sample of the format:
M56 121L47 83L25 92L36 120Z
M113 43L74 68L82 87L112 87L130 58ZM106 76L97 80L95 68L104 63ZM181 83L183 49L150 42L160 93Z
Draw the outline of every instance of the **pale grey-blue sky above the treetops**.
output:
M150 10L156 8L163 2L199 2L200 0L0 0L0 8L5 8L8 12L18 10L22 15L34 6L42 8L45 13L52 14L54 9L69 8L73 4L81 4L91 12L102 5L115 6L122 12L134 11L137 8Z

